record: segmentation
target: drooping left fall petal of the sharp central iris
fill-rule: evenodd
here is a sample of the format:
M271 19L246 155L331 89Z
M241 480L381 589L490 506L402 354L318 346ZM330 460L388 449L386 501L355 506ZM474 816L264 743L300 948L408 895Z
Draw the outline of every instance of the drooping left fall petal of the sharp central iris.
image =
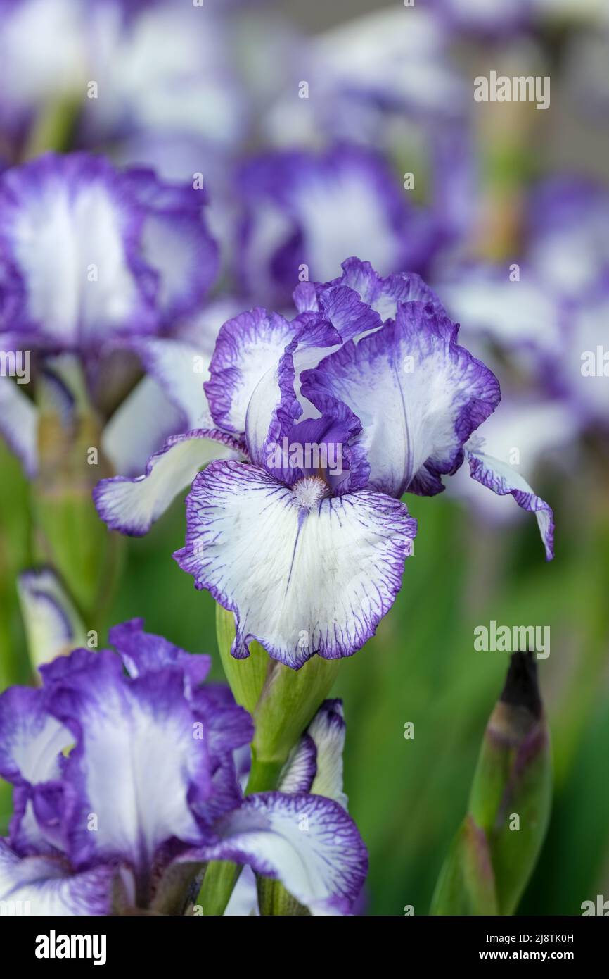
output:
M148 534L181 489L189 486L211 459L239 458L236 439L222 432L198 430L172 436L149 459L144 476L113 476L93 490L102 520L113 531Z

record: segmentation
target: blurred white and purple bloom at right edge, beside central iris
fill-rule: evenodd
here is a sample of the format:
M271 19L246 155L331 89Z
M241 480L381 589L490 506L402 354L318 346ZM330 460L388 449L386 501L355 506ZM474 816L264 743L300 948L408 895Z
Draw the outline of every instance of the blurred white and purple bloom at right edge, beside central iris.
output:
M457 266L438 288L468 343L499 347L535 398L562 403L581 429L606 428L609 195L556 176L533 189L526 214L521 255Z

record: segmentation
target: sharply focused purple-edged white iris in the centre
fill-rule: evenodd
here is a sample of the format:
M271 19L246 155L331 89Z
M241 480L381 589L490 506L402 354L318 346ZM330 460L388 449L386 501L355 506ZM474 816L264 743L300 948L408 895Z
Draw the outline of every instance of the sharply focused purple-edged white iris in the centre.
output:
M416 534L403 493L442 491L467 458L475 480L536 514L548 559L553 520L470 441L499 383L417 275L350 258L294 302L291 321L256 308L222 327L204 386L215 430L170 441L95 499L110 527L143 534L194 479L176 560L235 614L236 658L255 639L297 669L351 655L391 608ZM217 460L218 445L237 457Z

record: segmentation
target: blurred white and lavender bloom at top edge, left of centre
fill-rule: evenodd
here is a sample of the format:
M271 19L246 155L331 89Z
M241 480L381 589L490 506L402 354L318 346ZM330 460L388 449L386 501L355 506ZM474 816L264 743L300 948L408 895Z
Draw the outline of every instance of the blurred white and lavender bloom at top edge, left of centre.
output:
M164 133L209 148L239 142L246 100L225 12L224 2L97 0L86 16L89 70L103 95L84 101L82 138Z

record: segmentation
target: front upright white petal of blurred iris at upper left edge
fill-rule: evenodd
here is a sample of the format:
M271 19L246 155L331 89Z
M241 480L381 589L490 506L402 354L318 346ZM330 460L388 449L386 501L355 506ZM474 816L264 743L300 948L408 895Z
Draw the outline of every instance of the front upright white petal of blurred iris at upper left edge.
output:
M37 331L59 349L152 331L156 277L139 252L145 210L126 191L117 170L88 154L47 154L2 175L5 328Z

